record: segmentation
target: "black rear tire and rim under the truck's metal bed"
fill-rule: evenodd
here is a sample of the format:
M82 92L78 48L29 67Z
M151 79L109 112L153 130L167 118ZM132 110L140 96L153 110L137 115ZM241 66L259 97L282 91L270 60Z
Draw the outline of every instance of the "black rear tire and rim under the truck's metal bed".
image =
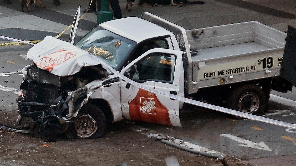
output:
M227 100L227 107L244 113L263 115L266 110L266 95L256 84L245 84L233 89ZM234 118L242 118L234 116Z

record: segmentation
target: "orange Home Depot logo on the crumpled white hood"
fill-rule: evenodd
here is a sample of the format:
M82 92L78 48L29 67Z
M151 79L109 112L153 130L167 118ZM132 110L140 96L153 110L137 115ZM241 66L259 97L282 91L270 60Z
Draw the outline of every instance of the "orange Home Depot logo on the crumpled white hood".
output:
M62 64L65 61L67 61L68 59L70 59L76 55L77 55L76 53L72 53L71 51L62 49L62 50L56 51L54 53L51 53L49 55L42 57L36 63L36 65L42 69L52 71L52 68L54 66Z

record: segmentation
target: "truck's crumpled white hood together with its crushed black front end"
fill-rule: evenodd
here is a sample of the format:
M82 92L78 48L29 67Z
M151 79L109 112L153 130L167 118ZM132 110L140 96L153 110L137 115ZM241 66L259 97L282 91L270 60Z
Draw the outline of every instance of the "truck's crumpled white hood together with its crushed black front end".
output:
M101 83L112 74L94 55L52 37L27 55L33 64L22 70L19 114L53 131L64 132L73 123L93 93L88 84Z

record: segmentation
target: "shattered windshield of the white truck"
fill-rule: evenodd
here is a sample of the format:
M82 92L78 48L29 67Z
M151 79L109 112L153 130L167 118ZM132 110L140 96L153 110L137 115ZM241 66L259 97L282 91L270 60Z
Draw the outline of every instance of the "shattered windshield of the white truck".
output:
M130 51L136 46L136 42L97 26L75 45L100 57L118 70Z

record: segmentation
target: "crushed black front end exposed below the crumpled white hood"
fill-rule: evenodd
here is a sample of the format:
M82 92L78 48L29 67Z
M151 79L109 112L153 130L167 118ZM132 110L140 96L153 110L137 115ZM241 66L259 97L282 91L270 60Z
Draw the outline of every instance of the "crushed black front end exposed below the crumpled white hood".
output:
M33 64L23 74L22 93L17 98L19 114L57 132L64 132L87 102L86 84L107 77L101 65L84 66L73 75L60 77Z

